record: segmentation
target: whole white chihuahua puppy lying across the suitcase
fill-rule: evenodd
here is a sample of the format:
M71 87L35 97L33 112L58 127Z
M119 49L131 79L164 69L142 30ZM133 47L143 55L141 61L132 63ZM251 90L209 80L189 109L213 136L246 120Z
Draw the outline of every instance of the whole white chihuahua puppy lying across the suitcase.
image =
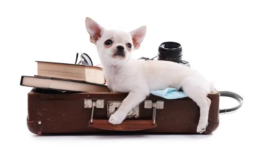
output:
M90 42L96 45L108 88L111 92L128 93L109 123L122 123L128 112L144 101L150 91L173 87L182 89L199 106L197 132L205 131L211 104L207 94L214 87L200 73L176 62L133 59L132 51L140 48L146 26L130 32L107 30L89 17L85 25Z

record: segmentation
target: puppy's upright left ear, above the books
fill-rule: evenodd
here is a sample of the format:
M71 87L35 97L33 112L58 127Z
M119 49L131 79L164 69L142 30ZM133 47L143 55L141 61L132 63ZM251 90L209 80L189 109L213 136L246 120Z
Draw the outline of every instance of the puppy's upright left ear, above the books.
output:
M104 28L89 17L85 19L85 26L90 34L90 42L96 44L97 40L101 38Z

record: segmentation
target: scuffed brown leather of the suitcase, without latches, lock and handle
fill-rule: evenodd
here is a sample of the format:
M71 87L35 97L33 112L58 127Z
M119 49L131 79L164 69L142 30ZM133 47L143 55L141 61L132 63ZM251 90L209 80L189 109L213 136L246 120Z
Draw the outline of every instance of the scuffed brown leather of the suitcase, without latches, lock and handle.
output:
M107 126L104 126L105 128L98 126L97 128L88 125L92 109L84 108L84 99L104 100L104 108L94 108L93 121L108 120L108 102L122 101L127 95L128 93L61 93L33 89L28 93L28 128L35 134L115 132L112 129L106 129ZM210 93L208 97L212 103L209 109L209 124L204 134L214 132L219 125L220 93ZM199 107L192 99L186 97L168 100L150 95L145 100L164 101L164 109L156 110L157 127L129 132L197 134L200 112ZM140 104L139 109L139 118L133 121L139 123L140 120L152 120L153 109L145 109L144 101ZM38 119L43 125L36 124ZM107 125L105 122L104 125Z

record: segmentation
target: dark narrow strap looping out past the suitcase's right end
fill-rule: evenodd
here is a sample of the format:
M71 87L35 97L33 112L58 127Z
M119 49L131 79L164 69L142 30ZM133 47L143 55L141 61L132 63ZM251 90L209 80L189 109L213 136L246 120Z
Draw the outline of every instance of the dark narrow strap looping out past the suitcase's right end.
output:
M218 91L218 92L221 93L221 96L234 98L239 102L239 105L237 105L236 107L233 107L230 109L220 109L219 113L232 112L232 111L239 109L242 106L244 99L240 95L233 93L233 92L229 92L229 91Z

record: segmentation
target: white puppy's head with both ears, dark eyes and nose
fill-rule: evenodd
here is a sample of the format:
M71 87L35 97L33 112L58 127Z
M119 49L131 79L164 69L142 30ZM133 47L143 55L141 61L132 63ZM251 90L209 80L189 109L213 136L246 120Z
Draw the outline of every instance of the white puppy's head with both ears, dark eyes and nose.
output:
M90 42L97 47L99 57L106 62L122 62L131 56L131 51L140 48L146 26L134 31L106 30L89 17L85 20L86 29L90 35Z

